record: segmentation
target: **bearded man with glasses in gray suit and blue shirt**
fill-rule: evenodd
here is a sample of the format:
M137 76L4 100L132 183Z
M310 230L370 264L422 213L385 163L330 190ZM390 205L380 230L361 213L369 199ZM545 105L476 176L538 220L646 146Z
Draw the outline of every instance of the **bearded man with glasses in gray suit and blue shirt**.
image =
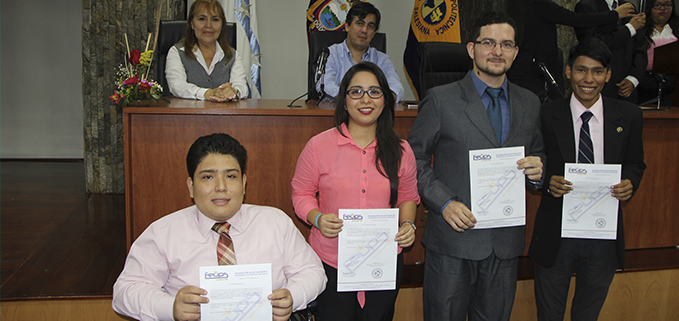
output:
M470 321L509 320L511 315L526 228L474 229L469 151L524 146L528 156L517 166L527 185L542 184L540 103L505 77L518 52L514 22L488 12L471 33L467 51L473 71L427 92L408 137L420 194L429 207L422 241L425 320L464 321L467 315Z

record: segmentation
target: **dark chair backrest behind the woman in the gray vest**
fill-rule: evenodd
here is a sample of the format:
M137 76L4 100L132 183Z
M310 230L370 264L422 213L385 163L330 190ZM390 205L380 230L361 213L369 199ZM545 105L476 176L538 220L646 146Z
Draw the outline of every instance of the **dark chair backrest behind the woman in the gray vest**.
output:
M158 52L158 59L156 60L158 69L156 71L156 79L161 86L163 86L163 96L171 97L170 88L167 86L167 79L165 79L165 59L167 52L179 40L186 35L186 20L161 20L158 28L158 43L156 44L156 52ZM224 26L224 32L229 41L229 46L236 48L236 24L227 22Z

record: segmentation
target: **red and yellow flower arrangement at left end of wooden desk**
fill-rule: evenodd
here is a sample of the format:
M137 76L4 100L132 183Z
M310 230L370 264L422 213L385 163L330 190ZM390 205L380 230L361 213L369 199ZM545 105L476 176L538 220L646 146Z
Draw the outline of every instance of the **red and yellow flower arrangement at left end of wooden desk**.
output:
M126 59L124 64L118 66L116 71L116 90L109 96L111 101L123 107L133 100L150 100L154 104L161 98L163 88L157 82L148 78L153 61L153 50L148 50L151 34L146 41L144 52L139 53L138 49L130 51L130 46L125 34ZM122 43L121 43L122 45Z

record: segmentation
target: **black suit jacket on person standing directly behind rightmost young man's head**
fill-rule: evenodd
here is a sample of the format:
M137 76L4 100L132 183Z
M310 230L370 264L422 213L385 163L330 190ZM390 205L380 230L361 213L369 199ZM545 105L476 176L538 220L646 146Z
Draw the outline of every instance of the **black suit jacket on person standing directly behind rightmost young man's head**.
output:
M581 0L575 5L575 12L594 13L608 12L608 4L605 0ZM650 19L650 17L647 17ZM629 20L625 20L627 22ZM588 37L601 39L611 50L613 60L611 61L611 80L604 86L602 95L611 98L618 98L619 83L628 75L636 77L639 81L644 76L648 57L646 50L648 42L643 29L637 30L634 37L630 35L629 29L622 23L608 24L595 28L575 28L575 35L578 41ZM636 101L636 92L630 96L629 101Z

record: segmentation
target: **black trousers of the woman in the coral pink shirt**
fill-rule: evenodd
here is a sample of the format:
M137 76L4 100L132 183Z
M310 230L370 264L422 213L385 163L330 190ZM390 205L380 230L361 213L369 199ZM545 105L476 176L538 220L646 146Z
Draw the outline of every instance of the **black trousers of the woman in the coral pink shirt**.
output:
M396 290L366 291L365 306L358 304L357 292L337 292L337 269L323 263L328 283L316 298L316 321L391 321L403 276L403 253L396 259Z

